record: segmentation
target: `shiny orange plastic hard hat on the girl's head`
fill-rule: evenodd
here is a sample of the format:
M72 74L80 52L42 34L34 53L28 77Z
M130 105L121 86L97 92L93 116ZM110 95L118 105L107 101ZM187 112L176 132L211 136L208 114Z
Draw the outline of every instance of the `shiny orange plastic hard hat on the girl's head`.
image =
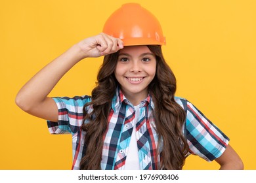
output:
M158 19L137 3L127 3L117 9L106 20L103 33L121 39L124 46L165 44Z

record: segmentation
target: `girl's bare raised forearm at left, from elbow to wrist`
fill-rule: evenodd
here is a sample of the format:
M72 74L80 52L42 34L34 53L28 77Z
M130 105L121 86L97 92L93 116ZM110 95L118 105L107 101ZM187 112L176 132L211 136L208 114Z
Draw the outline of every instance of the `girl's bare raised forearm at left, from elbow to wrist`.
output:
M37 103L43 102L60 78L81 59L83 59L83 55L79 47L72 46L41 69L22 87L16 96L17 105L23 110L29 110Z

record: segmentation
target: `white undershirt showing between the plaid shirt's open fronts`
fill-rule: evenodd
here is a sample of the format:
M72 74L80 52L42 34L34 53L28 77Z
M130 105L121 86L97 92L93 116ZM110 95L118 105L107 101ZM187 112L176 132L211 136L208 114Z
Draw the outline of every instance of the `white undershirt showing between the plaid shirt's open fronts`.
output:
M131 133L131 141L129 144L129 152L125 160L125 170L139 170L139 155L136 139L136 124L139 120L140 105L135 106L135 118L133 120L133 132Z

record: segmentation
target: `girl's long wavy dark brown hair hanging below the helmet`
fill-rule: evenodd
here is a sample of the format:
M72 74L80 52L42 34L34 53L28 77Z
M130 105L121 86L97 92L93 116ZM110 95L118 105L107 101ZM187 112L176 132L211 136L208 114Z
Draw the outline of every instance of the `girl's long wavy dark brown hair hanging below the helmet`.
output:
M161 46L148 46L156 56L156 75L148 86L148 92L154 101L154 118L158 133L160 152L160 169L182 169L188 144L182 133L186 118L183 108L175 102L176 78L165 62ZM108 127L112 98L116 93L118 82L114 76L119 52L104 57L97 76L96 87L92 91L92 101L84 106L82 125L85 135L85 156L81 159L80 169L101 169L103 138ZM87 113L89 105L93 112ZM158 147L159 148L159 147Z

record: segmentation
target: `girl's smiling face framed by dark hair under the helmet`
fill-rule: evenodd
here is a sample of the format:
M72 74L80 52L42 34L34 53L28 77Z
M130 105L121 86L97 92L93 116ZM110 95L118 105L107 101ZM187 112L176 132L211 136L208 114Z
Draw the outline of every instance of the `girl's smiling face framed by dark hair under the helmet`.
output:
M125 46L119 51L114 73L125 97L136 98L138 104L147 97L148 84L156 75L156 56L148 46Z

